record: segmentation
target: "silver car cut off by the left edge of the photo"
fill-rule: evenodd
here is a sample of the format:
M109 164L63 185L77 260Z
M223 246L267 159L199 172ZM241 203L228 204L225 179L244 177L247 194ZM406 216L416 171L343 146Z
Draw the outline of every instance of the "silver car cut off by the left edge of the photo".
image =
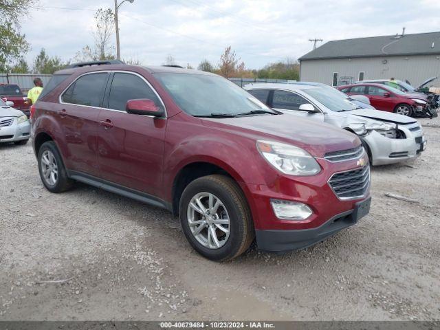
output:
M0 99L0 143L26 144L30 139L28 116L12 108L13 102Z

